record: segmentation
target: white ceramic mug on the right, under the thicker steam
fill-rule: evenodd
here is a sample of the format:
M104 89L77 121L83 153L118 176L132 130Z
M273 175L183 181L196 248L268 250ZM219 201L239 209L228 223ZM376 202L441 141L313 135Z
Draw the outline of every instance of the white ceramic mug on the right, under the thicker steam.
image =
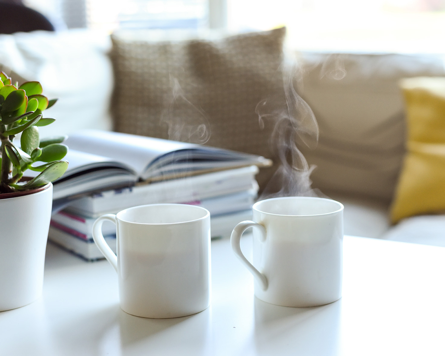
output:
M254 221L235 227L231 245L255 277L255 296L285 307L314 307L340 299L343 205L325 198L283 197L256 202L252 209ZM249 227L253 264L239 246Z

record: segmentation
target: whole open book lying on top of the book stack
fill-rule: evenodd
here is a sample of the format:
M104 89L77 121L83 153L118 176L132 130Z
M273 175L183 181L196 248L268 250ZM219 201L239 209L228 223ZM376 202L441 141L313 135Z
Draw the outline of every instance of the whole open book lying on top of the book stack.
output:
M53 182L53 199L138 182L155 182L243 166L271 166L271 160L241 152L111 131L82 130L66 140L69 162Z

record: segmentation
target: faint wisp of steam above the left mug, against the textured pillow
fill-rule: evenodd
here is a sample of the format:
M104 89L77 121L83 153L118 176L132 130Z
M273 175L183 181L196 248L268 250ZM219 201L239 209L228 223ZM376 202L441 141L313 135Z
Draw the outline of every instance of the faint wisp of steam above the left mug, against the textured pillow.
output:
M210 138L210 124L202 109L185 96L175 77L170 76L172 93L166 100L161 123L168 126L170 140L205 144Z

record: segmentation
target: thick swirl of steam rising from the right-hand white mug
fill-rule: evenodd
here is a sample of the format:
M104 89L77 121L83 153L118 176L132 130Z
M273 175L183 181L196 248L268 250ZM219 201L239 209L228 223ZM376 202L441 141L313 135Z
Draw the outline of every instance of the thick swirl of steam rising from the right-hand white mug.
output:
M279 167L259 197L259 200L282 196L324 196L311 188L310 175L315 166L309 166L297 143L315 148L318 143L318 124L312 109L298 95L293 85L295 67L283 69L285 102L271 96L258 103L255 112L259 125L271 121L271 149L279 158ZM278 191L274 191L279 187Z

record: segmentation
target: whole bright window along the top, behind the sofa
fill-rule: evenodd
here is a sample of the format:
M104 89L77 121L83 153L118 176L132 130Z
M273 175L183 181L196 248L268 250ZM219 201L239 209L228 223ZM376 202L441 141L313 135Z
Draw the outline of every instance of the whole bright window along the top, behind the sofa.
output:
M285 25L294 48L445 53L445 0L27 0L68 27L220 28Z

